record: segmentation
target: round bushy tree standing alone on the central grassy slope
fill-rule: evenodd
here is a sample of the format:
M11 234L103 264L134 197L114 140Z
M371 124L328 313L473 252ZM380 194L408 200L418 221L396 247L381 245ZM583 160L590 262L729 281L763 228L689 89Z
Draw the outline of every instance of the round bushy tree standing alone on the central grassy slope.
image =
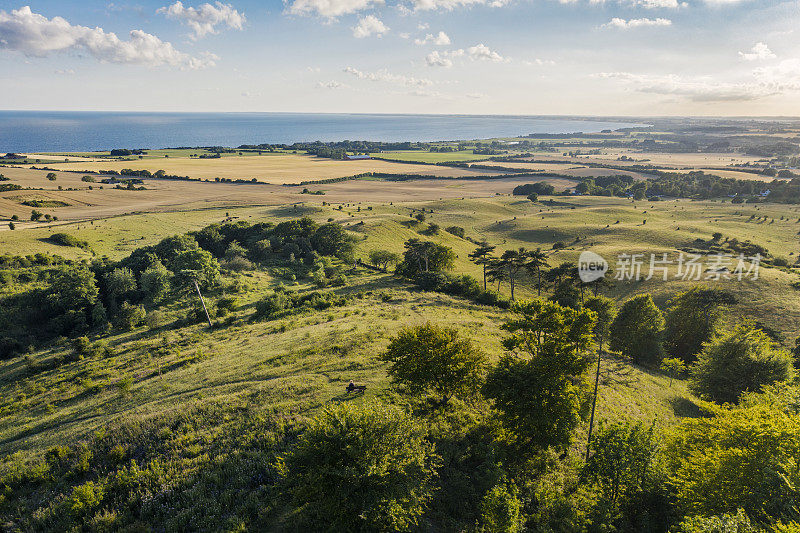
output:
M486 356L458 330L424 324L401 330L383 360L392 379L406 390L432 393L446 404L480 388Z

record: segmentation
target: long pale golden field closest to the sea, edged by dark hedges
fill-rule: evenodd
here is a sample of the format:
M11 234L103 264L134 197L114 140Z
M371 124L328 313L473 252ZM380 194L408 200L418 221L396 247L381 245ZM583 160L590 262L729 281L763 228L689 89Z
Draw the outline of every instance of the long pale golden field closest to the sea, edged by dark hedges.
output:
M75 171L100 171L124 168L133 170L163 170L167 174L192 178L252 179L277 185L302 181L342 178L365 172L388 174L429 174L443 178L487 174L459 168L391 163L388 161L335 161L310 155L270 154L220 159L164 158L138 161L79 161L59 163L56 168Z

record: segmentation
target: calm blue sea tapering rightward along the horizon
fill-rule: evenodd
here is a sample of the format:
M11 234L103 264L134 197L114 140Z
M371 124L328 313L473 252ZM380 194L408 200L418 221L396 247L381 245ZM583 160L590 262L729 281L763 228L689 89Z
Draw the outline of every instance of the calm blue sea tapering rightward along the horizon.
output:
M454 141L597 132L635 124L500 115L0 111L0 152L304 141Z

